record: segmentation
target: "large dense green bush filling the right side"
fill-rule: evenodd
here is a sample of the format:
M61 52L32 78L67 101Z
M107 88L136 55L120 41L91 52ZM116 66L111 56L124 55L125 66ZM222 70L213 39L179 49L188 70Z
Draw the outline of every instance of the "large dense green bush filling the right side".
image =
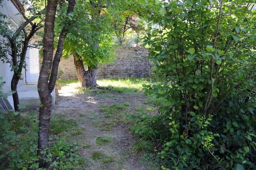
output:
M162 100L169 126L158 152L162 169L255 169L254 1L156 2L144 2L157 82L145 88Z

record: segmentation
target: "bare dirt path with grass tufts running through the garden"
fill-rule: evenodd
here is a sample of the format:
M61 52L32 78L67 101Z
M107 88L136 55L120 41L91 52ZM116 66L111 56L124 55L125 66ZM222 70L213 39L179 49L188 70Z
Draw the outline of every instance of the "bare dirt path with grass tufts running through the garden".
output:
M126 115L135 114L136 109L148 107L142 103L145 99L142 92L83 93L78 84L68 84L59 90L52 113L78 121L77 128L82 129L82 133L71 135L70 139L81 146L80 154L90 162L88 169L146 170L147 166L140 161L141 154L132 152L136 140L126 119ZM96 142L99 137L109 141L99 144Z

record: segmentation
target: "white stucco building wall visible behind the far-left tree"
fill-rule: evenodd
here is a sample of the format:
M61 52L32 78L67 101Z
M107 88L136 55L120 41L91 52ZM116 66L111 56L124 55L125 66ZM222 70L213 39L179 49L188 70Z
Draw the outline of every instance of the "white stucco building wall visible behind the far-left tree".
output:
M6 16L9 16L10 19L17 27L18 24L22 22L22 16L20 14L18 14L18 10L16 9L16 7L12 4L12 2L10 0L3 0L2 2L2 6L0 6L0 13L5 14ZM18 15L16 15L18 14ZM6 20L8 21L8 20ZM13 25L15 27L15 25ZM3 37L0 35L0 41L3 40ZM9 55L8 55L9 56ZM10 56L9 56L10 57ZM6 84L4 85L2 91L4 93L8 93L10 92L11 88L10 88L10 84L11 84L11 80L12 80L12 75L13 72L10 71L10 64L9 63L2 63L2 61L0 61L0 77L3 77L3 81L6 82ZM22 84L25 83L25 71L22 70L22 75L24 77L23 80L20 80L18 86L21 86ZM11 98L12 100L12 98Z

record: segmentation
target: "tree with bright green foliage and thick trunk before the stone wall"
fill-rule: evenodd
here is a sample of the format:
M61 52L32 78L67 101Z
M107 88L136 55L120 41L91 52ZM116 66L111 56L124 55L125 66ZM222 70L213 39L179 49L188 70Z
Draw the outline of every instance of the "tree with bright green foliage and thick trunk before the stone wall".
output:
M77 18L64 44L65 54L74 56L78 80L83 87L96 86L98 67L113 59L112 26L107 2L78 1ZM88 66L85 70L84 65Z

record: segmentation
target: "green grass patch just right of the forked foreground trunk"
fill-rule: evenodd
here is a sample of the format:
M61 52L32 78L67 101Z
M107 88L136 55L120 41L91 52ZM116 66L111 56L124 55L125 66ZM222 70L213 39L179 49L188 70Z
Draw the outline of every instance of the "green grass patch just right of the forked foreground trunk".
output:
M77 126L78 123L74 119L68 119L63 116L54 116L51 118L50 133L59 134L62 132L70 131L72 127Z

